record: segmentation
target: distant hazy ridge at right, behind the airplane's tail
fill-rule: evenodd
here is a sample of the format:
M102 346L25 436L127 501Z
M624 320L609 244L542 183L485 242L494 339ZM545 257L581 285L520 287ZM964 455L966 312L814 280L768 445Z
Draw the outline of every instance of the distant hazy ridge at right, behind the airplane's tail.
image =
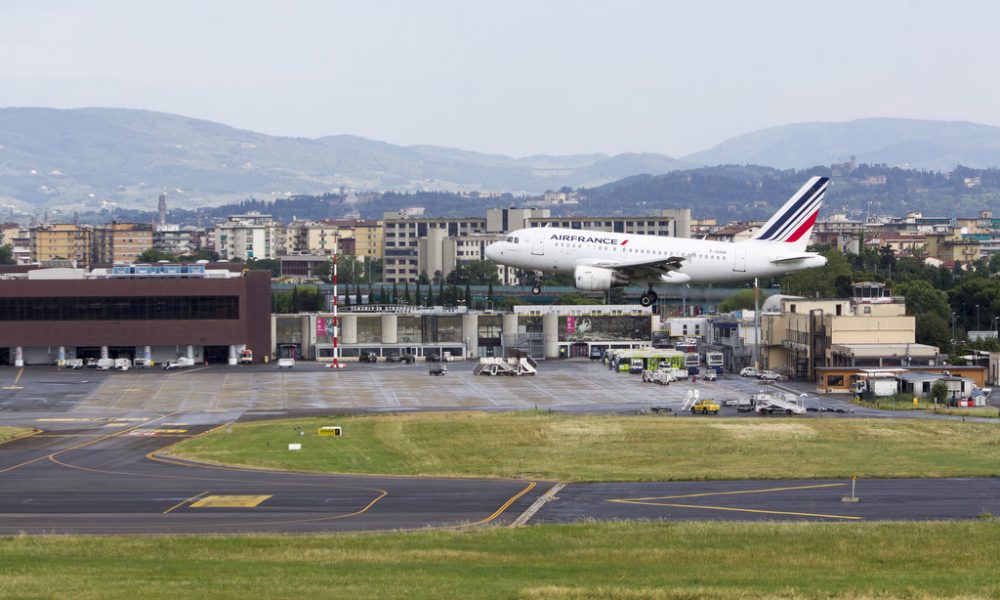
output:
M1000 167L1000 127L964 121L859 119L761 129L685 156L705 165L756 164L808 169L846 162L951 171Z

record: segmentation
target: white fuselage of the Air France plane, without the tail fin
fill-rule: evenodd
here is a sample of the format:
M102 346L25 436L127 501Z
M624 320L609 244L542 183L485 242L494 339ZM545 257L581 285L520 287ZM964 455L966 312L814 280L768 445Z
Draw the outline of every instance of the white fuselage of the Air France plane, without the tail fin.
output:
M622 266L640 261L681 257L676 270L689 283L744 281L826 264L815 253L797 252L781 242L747 240L716 242L655 235L608 233L581 229L538 227L519 229L486 249L487 258L512 267L544 273L573 273L578 266ZM789 260L799 257L796 260ZM786 262L775 263L785 259ZM630 283L670 283L641 278Z

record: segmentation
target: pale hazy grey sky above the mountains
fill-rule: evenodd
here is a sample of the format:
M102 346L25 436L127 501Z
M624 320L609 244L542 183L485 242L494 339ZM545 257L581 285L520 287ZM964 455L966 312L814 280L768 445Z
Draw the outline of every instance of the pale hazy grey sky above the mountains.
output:
M802 121L1000 125L990 1L0 0L0 106L524 156Z

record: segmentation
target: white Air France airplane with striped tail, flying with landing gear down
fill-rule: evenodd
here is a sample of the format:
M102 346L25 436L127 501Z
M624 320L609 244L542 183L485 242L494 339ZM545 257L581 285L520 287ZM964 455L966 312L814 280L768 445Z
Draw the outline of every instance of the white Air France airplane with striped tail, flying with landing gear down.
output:
M813 177L749 240L716 242L584 229L530 227L486 248L490 260L541 273L572 273L577 289L597 292L646 284L642 306L656 303L654 285L720 283L813 269L826 258L806 252L829 177ZM540 294L535 285L531 292Z

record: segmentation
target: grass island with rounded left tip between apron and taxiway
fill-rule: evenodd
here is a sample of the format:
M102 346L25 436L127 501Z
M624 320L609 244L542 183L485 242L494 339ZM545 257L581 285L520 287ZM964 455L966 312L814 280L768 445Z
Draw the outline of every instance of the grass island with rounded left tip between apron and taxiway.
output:
M340 425L344 436L320 438L320 425ZM302 451L289 452L289 442L301 442ZM560 481L997 476L1000 427L916 419L420 413L239 424L171 453L305 471Z

